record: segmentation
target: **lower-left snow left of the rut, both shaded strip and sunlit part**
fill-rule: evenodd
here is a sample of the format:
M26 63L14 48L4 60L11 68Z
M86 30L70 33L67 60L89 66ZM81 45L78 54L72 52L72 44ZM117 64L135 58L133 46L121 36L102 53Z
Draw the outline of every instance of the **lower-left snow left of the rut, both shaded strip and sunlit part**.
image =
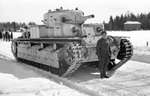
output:
M0 59L1 96L88 96L16 63Z

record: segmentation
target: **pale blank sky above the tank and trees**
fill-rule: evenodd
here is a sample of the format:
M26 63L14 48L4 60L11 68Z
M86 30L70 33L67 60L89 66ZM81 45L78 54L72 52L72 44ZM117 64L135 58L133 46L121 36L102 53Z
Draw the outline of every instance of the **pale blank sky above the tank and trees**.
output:
M94 14L95 18L87 21L93 23L108 22L112 15L150 12L150 0L0 0L0 22L33 21L42 24L43 14L49 9L78 7L85 15Z

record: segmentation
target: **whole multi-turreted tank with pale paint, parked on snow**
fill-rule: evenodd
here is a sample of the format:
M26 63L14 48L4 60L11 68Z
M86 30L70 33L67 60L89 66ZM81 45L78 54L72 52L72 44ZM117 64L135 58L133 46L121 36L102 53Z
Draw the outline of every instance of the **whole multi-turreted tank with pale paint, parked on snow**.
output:
M18 62L62 77L70 76L82 64L98 63L96 43L102 37L104 25L84 23L91 18L94 15L84 16L81 10L49 10L44 14L43 25L32 25L30 32L12 40L12 53ZM112 53L109 74L132 57L133 46L128 37L108 36L107 39Z

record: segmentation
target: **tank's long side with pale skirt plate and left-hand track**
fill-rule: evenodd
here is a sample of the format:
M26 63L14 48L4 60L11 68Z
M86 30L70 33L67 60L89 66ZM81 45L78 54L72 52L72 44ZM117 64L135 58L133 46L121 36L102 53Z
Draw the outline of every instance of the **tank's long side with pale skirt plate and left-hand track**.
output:
M67 41L66 41L67 40ZM12 53L18 61L30 61L34 66L45 67L59 76L81 61L81 39L15 39L12 41Z

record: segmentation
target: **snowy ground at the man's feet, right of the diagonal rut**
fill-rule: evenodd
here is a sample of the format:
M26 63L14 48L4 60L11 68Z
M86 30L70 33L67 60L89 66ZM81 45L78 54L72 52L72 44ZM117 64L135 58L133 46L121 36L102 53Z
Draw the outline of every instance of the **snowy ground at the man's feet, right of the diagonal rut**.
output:
M91 68L89 70L79 69L73 77L68 77L68 79L104 96L150 96L149 69L148 63L128 61L109 79L99 79L99 74L94 74L99 70L93 72ZM86 71L91 74L85 75Z

